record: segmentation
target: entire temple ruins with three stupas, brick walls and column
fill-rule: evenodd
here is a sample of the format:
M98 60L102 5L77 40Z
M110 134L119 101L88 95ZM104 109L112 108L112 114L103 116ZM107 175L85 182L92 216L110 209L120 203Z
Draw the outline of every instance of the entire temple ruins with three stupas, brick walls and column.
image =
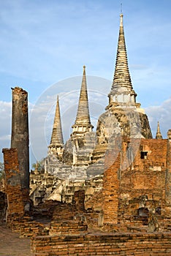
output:
M22 91L15 89L17 99ZM171 130L163 139L158 123L153 139L148 117L136 102L123 15L108 97L109 104L93 132L83 67L77 116L65 144L57 98L44 170L39 172L37 165L30 174L32 207L26 193L28 173L23 171L23 152L18 148L23 137L12 113L17 123L14 126L12 119L12 141L17 143L3 150L6 222L21 236L31 237L36 256L171 254ZM27 105L23 100L18 104L18 110L25 113ZM20 119L23 136L28 135L26 119Z

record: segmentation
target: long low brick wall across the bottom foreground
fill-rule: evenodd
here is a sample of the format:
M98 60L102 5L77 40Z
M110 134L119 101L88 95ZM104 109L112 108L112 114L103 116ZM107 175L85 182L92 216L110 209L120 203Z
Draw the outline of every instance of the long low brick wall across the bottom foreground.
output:
M35 236L35 256L54 255L171 255L170 233L87 234L85 236Z

